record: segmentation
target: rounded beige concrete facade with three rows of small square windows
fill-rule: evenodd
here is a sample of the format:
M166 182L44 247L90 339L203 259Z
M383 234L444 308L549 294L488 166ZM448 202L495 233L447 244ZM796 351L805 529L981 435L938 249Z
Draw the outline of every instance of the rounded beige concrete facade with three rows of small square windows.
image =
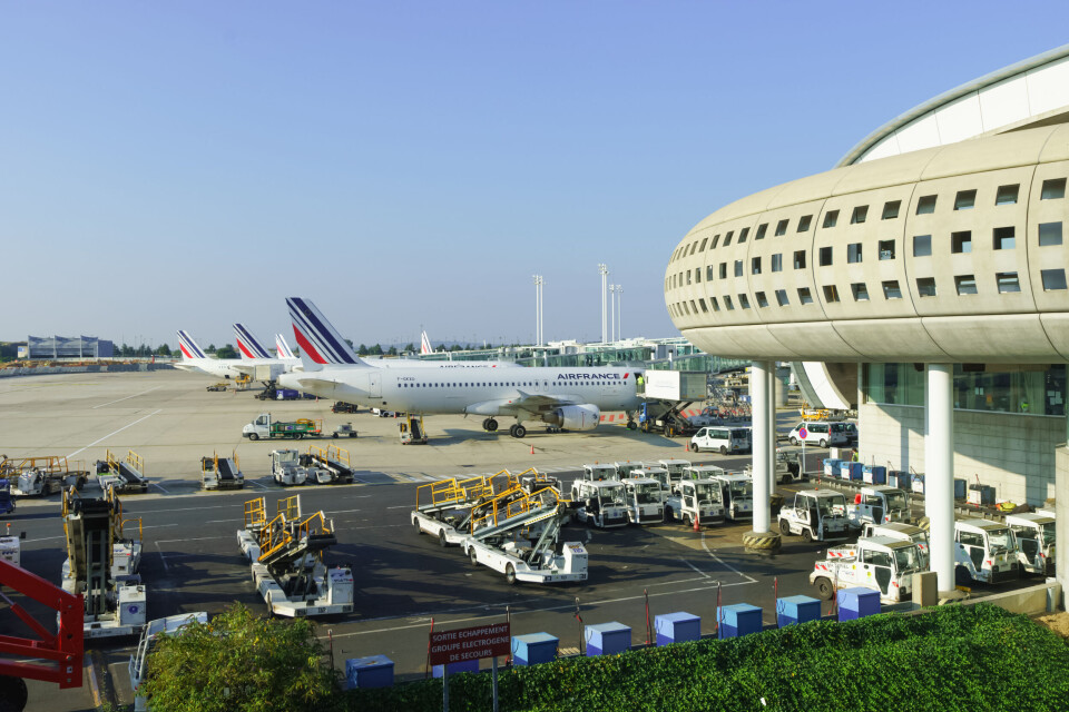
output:
M1055 125L776 186L688 233L666 304L723 356L1069 360L1067 178Z

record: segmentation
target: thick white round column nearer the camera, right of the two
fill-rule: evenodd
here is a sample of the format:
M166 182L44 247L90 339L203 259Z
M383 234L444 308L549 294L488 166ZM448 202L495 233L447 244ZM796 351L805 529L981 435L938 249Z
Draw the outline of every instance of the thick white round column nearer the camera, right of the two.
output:
M940 592L954 591L954 402L951 364L926 369L924 513L930 522L932 571Z

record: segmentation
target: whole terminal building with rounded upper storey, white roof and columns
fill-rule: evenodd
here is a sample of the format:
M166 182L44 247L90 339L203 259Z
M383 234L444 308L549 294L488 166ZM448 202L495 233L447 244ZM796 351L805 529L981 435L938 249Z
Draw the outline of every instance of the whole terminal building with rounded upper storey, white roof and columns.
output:
M941 590L954 477L1031 505L1059 476L1069 487L1067 179L1069 46L935 97L826 172L717 209L670 255L675 325L752 359L755 400L774 362L792 362L814 405L856 404L865 462L925 473Z

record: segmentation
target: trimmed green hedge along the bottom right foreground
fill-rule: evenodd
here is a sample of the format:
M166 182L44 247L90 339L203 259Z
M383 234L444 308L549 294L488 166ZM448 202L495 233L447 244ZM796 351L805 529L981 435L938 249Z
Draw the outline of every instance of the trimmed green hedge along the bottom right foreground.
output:
M989 604L814 621L725 641L570 657L498 676L502 712L1069 710L1069 646ZM489 674L450 676L451 712L490 709ZM762 698L767 706L762 705ZM352 690L355 711L441 710L441 680Z

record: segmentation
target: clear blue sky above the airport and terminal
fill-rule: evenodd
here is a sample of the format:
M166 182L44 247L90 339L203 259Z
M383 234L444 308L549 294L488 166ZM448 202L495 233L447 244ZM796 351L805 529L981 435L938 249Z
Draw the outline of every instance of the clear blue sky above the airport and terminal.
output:
M677 241L1066 3L0 0L0 339L676 336Z

